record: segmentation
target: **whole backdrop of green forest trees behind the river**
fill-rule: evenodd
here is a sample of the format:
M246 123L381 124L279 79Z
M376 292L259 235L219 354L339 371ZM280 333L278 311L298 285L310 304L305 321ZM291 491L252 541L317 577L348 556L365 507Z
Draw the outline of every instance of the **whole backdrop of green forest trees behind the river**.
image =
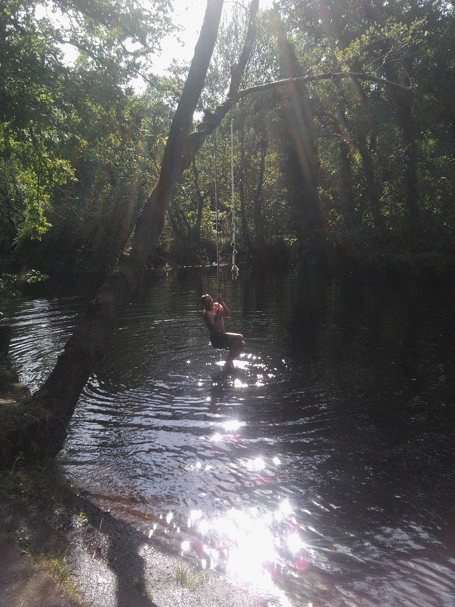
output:
M170 5L0 0L4 293L18 280L74 281L115 265L157 181L189 69L175 62L166 75L153 73L152 58L175 28ZM195 124L226 95L247 23L247 7L234 4ZM67 46L77 51L70 64ZM132 86L138 76L141 92ZM274 2L258 15L241 86L302 76L243 95L217 129L221 259L231 259L232 118L237 263L453 270L451 2ZM178 183L149 263L214 260L207 138Z

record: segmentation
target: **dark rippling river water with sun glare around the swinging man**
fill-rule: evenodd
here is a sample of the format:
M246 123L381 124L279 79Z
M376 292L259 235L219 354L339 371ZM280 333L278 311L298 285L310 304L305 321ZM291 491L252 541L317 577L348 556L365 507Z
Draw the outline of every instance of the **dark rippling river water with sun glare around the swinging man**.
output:
M59 457L99 506L268 605L453 607L453 299L428 285L226 268L234 373L209 345L214 268L150 274ZM452 293L453 295L453 293ZM22 297L32 389L84 297Z

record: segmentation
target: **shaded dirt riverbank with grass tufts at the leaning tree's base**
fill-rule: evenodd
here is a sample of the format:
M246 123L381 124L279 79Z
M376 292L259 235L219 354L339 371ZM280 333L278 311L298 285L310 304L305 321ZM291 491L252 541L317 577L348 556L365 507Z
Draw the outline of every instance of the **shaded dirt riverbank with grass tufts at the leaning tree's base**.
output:
M29 395L7 356L0 407ZM5 607L262 607L240 589L80 495L56 464L0 473L0 604Z

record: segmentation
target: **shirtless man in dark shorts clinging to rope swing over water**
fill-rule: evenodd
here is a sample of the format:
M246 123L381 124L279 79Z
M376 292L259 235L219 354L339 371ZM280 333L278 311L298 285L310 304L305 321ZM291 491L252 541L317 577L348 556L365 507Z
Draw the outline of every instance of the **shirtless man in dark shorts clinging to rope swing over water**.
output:
M210 333L210 341L214 348L218 350L229 350L229 356L226 358L226 365L234 368L234 358L245 347L243 335L240 333L226 333L224 328L223 316L231 316L231 312L227 305L221 299L221 294L218 293L218 302L214 302L209 294L201 297L204 311L202 313L207 329Z

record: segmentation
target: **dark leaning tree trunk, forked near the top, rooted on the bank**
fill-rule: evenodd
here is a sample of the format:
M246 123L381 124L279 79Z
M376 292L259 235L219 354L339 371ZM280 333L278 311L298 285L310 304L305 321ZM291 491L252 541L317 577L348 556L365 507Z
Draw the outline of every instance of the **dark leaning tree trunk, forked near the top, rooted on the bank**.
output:
M126 308L132 291L138 285L147 255L157 243L163 229L166 206L172 200L177 180L237 97L241 76L251 55L258 0L251 2L250 22L243 53L238 64L231 69L229 98L210 114L211 121L204 120L198 125L196 132L189 134L217 39L222 8L223 0L207 0L204 22L170 127L157 185L138 215L134 231L115 269L91 302L85 319L59 355L49 378L21 408L18 416L22 418L19 420L21 423L7 432L0 429L2 463L14 461L19 453L22 453L25 459L32 459L55 455L62 449L67 424L73 415L76 402L93 367L103 359L107 340Z

